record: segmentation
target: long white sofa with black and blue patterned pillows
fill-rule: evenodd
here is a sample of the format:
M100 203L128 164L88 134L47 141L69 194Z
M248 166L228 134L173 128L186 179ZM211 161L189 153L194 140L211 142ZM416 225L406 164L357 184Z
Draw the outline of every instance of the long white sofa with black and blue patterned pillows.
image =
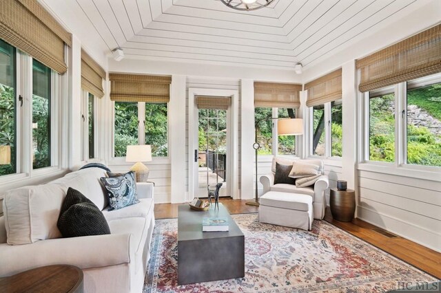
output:
M0 217L0 276L65 263L83 270L85 292L142 292L154 228L153 184L136 184L139 204L107 211L107 195L99 181L104 176L103 169L88 168L48 184L6 192ZM68 187L103 211L110 235L61 238L57 219ZM14 223L14 213L21 213L18 207L29 211L22 222ZM28 243L8 244L6 222L11 241L14 237Z

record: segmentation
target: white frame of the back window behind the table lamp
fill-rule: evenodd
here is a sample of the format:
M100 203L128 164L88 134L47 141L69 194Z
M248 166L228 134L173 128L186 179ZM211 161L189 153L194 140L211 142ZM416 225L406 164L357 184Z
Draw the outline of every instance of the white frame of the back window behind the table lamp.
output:
M145 104L147 102L138 102L138 144L145 144ZM96 134L95 134L96 136ZM110 164L132 164L125 163L125 157L115 157L115 101L112 101L112 148L110 153ZM167 102L167 156L156 157L152 154L152 160L161 164L170 162L170 102Z

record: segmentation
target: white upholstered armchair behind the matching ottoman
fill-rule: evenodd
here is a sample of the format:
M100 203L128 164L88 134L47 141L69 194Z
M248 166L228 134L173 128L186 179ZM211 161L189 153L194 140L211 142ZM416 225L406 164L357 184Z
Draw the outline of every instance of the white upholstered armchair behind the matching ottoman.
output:
M271 165L271 172L260 176L260 183L263 184L263 194L268 191L278 191L281 193L300 193L310 195L312 197L312 206L314 212L314 219L323 219L325 217L326 197L325 191L329 187L329 180L327 175L322 175L318 178L313 186L296 187L293 184L274 184L274 174L276 172L276 162L283 165L291 165L295 160L283 157L274 157ZM302 160L309 164L318 165L318 171L324 174L323 161L319 159Z

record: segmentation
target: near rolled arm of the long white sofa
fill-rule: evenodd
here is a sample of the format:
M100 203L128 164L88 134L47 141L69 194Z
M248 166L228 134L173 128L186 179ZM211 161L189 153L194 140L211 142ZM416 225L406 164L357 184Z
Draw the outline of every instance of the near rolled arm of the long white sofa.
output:
M61 263L81 269L130 263L136 248L133 242L130 234L109 234L47 239L15 246L1 243L0 276Z

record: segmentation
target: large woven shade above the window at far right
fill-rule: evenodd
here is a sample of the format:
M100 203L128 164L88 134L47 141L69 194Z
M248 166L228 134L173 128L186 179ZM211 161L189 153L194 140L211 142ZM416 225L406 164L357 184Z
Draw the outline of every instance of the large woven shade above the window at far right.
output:
M357 60L360 91L372 91L441 72L441 25Z

